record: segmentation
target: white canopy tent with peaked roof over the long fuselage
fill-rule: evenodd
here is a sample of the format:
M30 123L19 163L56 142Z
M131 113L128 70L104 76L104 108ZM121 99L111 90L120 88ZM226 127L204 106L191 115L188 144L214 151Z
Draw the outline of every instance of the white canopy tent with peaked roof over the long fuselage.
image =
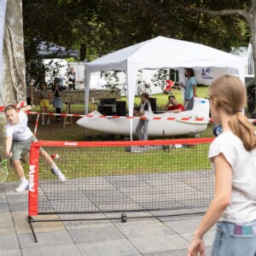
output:
M119 49L96 61L85 63L84 67L85 113L88 113L90 74L98 71L124 70L128 110L129 115L132 116L138 70L173 68L182 71L183 67L219 67L225 69L229 67L236 69L243 81L245 63L241 57L203 44L157 37L125 49Z

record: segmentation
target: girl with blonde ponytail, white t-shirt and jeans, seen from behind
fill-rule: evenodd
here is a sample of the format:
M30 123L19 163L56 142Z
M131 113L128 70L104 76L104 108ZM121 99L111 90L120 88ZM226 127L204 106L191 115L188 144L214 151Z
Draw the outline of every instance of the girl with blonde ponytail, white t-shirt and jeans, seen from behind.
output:
M242 113L246 87L225 75L212 82L209 96L212 119L223 128L209 148L215 195L188 255L205 255L203 236L215 223L213 256L256 255L256 135Z

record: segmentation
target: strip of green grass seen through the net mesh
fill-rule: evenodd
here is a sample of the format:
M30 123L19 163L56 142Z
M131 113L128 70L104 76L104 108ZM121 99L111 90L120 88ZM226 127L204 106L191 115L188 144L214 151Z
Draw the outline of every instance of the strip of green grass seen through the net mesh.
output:
M199 144L192 148L171 148L170 151L156 148L141 153L126 152L122 146L45 149L59 152L61 158L55 162L66 177L72 178L74 175L93 177L210 170L208 148L208 144ZM44 161L40 163L40 178L52 178L49 166Z

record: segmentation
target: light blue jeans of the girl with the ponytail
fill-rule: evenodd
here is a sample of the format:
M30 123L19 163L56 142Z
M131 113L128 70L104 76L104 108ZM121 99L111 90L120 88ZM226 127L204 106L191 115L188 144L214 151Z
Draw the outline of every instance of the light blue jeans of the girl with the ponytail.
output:
M243 224L252 225L251 235L235 235L235 224L220 221L212 244L212 256L256 256L256 220Z

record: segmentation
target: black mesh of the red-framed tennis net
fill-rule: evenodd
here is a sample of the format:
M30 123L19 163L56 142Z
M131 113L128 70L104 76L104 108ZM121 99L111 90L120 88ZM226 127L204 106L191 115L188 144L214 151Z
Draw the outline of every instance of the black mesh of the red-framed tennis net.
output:
M208 143L45 147L65 175L40 158L38 213L130 212L207 207ZM60 158L58 158L58 155ZM57 156L57 158L56 158Z

